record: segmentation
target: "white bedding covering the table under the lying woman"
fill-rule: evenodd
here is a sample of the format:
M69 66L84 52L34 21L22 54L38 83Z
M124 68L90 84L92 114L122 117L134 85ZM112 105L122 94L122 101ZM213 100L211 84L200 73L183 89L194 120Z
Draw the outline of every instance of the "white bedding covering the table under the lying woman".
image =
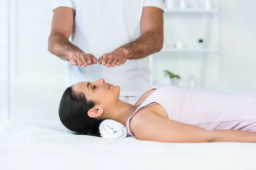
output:
M77 136L59 121L0 126L0 170L254 170L256 144Z

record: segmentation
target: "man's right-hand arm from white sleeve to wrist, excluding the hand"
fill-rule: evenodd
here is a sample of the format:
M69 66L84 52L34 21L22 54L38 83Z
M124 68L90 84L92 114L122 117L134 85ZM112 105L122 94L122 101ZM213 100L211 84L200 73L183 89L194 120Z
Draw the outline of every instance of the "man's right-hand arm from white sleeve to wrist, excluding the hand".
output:
M141 36L122 45L127 59L140 59L163 48L163 11L157 7L144 7L140 23Z

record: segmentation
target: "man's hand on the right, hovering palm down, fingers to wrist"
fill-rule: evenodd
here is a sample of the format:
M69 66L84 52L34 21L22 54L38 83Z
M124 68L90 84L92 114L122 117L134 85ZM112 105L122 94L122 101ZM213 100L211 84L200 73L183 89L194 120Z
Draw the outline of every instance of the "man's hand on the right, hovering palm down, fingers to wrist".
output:
M99 64L106 65L107 67L124 64L128 55L127 52L125 49L117 48L111 53L106 53L99 57Z

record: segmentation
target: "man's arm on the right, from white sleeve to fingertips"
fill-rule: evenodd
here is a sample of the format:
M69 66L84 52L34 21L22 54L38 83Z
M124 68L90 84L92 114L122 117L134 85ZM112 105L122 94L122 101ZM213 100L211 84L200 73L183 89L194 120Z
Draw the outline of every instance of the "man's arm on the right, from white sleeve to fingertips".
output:
M141 17L141 35L136 40L116 48L99 58L99 64L107 67L121 65L126 59L141 59L163 48L163 11L147 6Z

